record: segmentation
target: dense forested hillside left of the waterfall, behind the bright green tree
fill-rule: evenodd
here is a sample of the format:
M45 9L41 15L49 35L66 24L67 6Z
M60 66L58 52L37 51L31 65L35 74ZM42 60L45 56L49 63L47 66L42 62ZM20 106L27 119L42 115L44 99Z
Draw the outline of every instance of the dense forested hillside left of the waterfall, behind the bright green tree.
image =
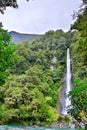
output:
M74 33L57 30L17 46L18 62L7 70L8 79L0 87L1 124L57 120L66 49L76 39Z

